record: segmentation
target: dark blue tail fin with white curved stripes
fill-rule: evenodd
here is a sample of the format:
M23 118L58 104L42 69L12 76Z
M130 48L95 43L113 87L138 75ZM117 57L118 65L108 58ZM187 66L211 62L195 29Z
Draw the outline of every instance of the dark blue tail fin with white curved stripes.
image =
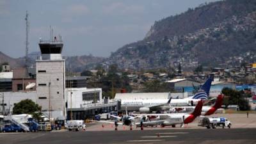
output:
M192 99L205 99L205 100L208 99L213 78L214 78L214 75L210 75L210 77L200 87L198 92L196 92L196 94L193 95Z

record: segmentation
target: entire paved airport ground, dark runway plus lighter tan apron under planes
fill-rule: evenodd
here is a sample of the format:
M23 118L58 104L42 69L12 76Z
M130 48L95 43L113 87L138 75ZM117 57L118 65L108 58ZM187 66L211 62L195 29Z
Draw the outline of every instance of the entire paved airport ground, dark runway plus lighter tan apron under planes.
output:
M231 129L206 129L198 127L195 120L192 124L180 127L152 128L144 131L120 125L118 131L111 124L87 124L85 132L52 131L29 133L0 133L0 143L256 143L256 114L215 114L224 116L232 122Z

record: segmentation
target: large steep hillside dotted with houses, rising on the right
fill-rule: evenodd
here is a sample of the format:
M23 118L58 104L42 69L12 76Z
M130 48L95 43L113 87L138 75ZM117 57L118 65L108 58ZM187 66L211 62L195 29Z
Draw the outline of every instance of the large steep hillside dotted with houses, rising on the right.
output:
M256 0L201 4L156 21L145 38L111 54L121 68L166 68L182 64L230 67L256 61Z

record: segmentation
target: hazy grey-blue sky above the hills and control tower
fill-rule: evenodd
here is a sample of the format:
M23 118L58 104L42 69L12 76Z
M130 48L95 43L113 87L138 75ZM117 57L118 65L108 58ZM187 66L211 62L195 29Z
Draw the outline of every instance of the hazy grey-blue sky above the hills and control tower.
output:
M61 35L64 56L108 57L118 48L142 40L156 20L217 0L0 0L0 51L25 56L26 10L29 52L39 38Z

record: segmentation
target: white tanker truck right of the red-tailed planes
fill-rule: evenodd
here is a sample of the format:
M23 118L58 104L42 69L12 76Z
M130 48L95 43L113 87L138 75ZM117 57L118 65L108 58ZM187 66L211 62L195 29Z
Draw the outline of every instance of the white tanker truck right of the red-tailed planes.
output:
M210 129L212 127L212 129L216 129L217 127L231 127L231 122L224 117L212 117L212 118L208 118L205 116L200 117L199 122L198 122L198 126L201 127L207 127L207 129Z

